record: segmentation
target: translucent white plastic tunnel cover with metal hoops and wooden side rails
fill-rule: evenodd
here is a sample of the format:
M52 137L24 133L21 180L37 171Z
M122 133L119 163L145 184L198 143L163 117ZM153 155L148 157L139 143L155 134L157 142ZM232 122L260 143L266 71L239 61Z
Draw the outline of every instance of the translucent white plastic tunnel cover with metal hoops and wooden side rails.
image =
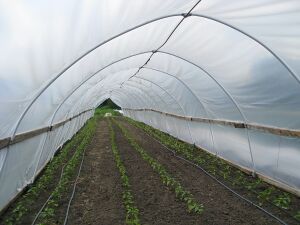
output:
M300 2L0 1L0 209L110 98L300 191Z

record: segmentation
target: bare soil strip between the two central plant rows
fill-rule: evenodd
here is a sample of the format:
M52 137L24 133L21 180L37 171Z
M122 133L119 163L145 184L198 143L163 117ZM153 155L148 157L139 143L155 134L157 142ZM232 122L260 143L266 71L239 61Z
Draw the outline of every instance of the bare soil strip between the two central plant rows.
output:
M121 130L116 125L113 125L113 129L130 179L135 205L140 211L141 224L198 224L199 216L187 213L186 205L162 184L159 175L136 153Z

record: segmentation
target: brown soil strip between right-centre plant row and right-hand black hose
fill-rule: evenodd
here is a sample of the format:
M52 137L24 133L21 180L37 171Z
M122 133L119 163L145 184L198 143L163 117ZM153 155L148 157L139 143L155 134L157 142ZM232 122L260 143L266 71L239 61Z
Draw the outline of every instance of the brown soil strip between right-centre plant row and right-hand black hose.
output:
M172 156L139 128L118 120L147 152L176 177L196 199L205 206L205 212L194 224L278 224L258 209L225 190L195 167ZM178 218L179 219L179 218ZM180 220L180 224L186 224ZM155 224L155 223L154 223Z

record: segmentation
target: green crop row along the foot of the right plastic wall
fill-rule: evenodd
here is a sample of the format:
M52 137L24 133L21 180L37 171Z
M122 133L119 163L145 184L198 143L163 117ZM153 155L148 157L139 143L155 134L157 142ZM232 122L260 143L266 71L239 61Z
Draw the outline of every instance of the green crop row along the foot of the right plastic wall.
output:
M130 118L126 120L144 130L147 134L163 143L168 148L174 150L176 154L184 157L185 159L203 167L210 174L217 176L218 178L226 181L233 187L242 188L253 195L259 205L270 204L285 211L287 215L300 221L300 209L299 206L295 207L295 203L292 204L292 199L296 200L296 197L291 194L280 190L272 185L266 184L259 178L254 178L229 165L224 160L207 153L194 145L185 143L159 131L153 127L150 127L144 123L137 122ZM293 205L293 207L291 206Z

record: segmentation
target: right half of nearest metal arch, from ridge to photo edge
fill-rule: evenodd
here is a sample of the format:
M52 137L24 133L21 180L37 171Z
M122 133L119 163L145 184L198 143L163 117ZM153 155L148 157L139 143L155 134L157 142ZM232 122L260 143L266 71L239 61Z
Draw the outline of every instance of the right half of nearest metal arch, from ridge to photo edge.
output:
M287 69L287 71L292 75L292 77L300 84L300 78L298 78L298 76L292 70L292 68L290 68L289 65L279 55L277 55L270 47L268 47L266 44L264 44L262 41L260 41L256 37L252 36L251 34L247 33L246 31L244 31L244 30L242 30L242 29L240 29L240 28L238 28L238 27L236 27L232 24L229 24L227 22L224 22L220 19L217 19L217 18L214 18L214 17L211 17L211 16L207 16L207 15L204 15L204 14L198 14L198 13L190 13L189 16L201 17L201 18L205 18L205 19L208 19L208 20L212 20L212 21L215 21L217 23L223 24L227 27L230 27L230 28L238 31L239 33L244 34L248 38L255 41L257 44L262 46L264 49L266 49L269 53L271 53L280 62L280 64Z

